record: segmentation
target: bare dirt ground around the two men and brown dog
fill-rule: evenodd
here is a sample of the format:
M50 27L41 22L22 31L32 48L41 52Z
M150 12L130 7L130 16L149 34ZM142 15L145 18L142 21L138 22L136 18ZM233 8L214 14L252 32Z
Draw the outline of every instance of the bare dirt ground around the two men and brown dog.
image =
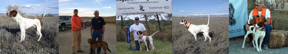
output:
M81 50L88 54L90 52L90 44L87 43L87 39L91 38L90 28L81 30ZM72 53L72 31L71 28L66 28L65 31L59 31L59 54L70 54ZM116 26L115 25L105 25L104 41L108 43L108 47L111 53L107 50L107 54L116 54ZM101 54L104 51L101 49ZM77 54L77 53L76 53Z

